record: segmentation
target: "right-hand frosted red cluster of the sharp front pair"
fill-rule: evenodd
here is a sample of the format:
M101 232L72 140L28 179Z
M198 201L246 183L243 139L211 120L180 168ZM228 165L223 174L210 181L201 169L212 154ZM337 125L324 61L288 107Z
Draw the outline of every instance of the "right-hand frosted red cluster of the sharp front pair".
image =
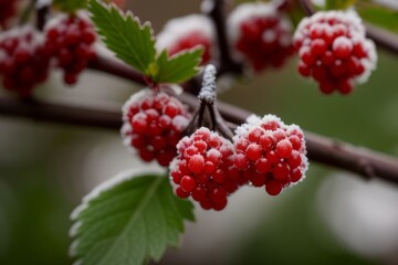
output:
M305 177L305 140L296 125L285 125L273 115L262 119L251 116L237 128L233 142L233 160L244 181L254 187L265 186L271 195L277 195Z

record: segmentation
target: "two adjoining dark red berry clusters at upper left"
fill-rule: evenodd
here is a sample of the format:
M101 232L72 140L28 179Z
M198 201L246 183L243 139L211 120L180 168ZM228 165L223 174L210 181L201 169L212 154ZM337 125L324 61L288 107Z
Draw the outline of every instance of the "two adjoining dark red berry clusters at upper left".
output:
M30 96L49 76L55 63L64 70L66 84L95 56L96 34L92 23L77 15L55 18L45 34L32 26L17 26L0 35L0 77L6 89Z

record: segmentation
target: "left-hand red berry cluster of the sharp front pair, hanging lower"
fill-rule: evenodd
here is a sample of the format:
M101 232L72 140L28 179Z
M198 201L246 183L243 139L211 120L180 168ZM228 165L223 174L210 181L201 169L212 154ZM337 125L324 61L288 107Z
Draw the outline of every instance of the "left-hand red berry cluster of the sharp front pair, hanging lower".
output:
M201 127L184 137L178 156L170 163L170 179L180 198L191 197L205 210L226 208L229 194L240 186L233 162L233 145L217 132Z

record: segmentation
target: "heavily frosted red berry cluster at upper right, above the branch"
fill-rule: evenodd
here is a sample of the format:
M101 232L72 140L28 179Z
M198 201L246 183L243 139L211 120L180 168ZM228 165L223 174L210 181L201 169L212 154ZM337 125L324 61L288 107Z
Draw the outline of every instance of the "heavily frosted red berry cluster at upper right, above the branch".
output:
M324 94L349 94L375 68L375 44L354 12L317 12L301 21L294 34L298 72L313 77Z

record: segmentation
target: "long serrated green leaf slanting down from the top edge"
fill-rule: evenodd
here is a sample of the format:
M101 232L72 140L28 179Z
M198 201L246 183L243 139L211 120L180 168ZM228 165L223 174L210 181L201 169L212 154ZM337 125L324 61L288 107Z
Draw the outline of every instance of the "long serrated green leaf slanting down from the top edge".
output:
M124 14L115 6L97 0L90 0L88 9L107 47L125 63L148 75L156 56L150 24L142 24L130 12Z

